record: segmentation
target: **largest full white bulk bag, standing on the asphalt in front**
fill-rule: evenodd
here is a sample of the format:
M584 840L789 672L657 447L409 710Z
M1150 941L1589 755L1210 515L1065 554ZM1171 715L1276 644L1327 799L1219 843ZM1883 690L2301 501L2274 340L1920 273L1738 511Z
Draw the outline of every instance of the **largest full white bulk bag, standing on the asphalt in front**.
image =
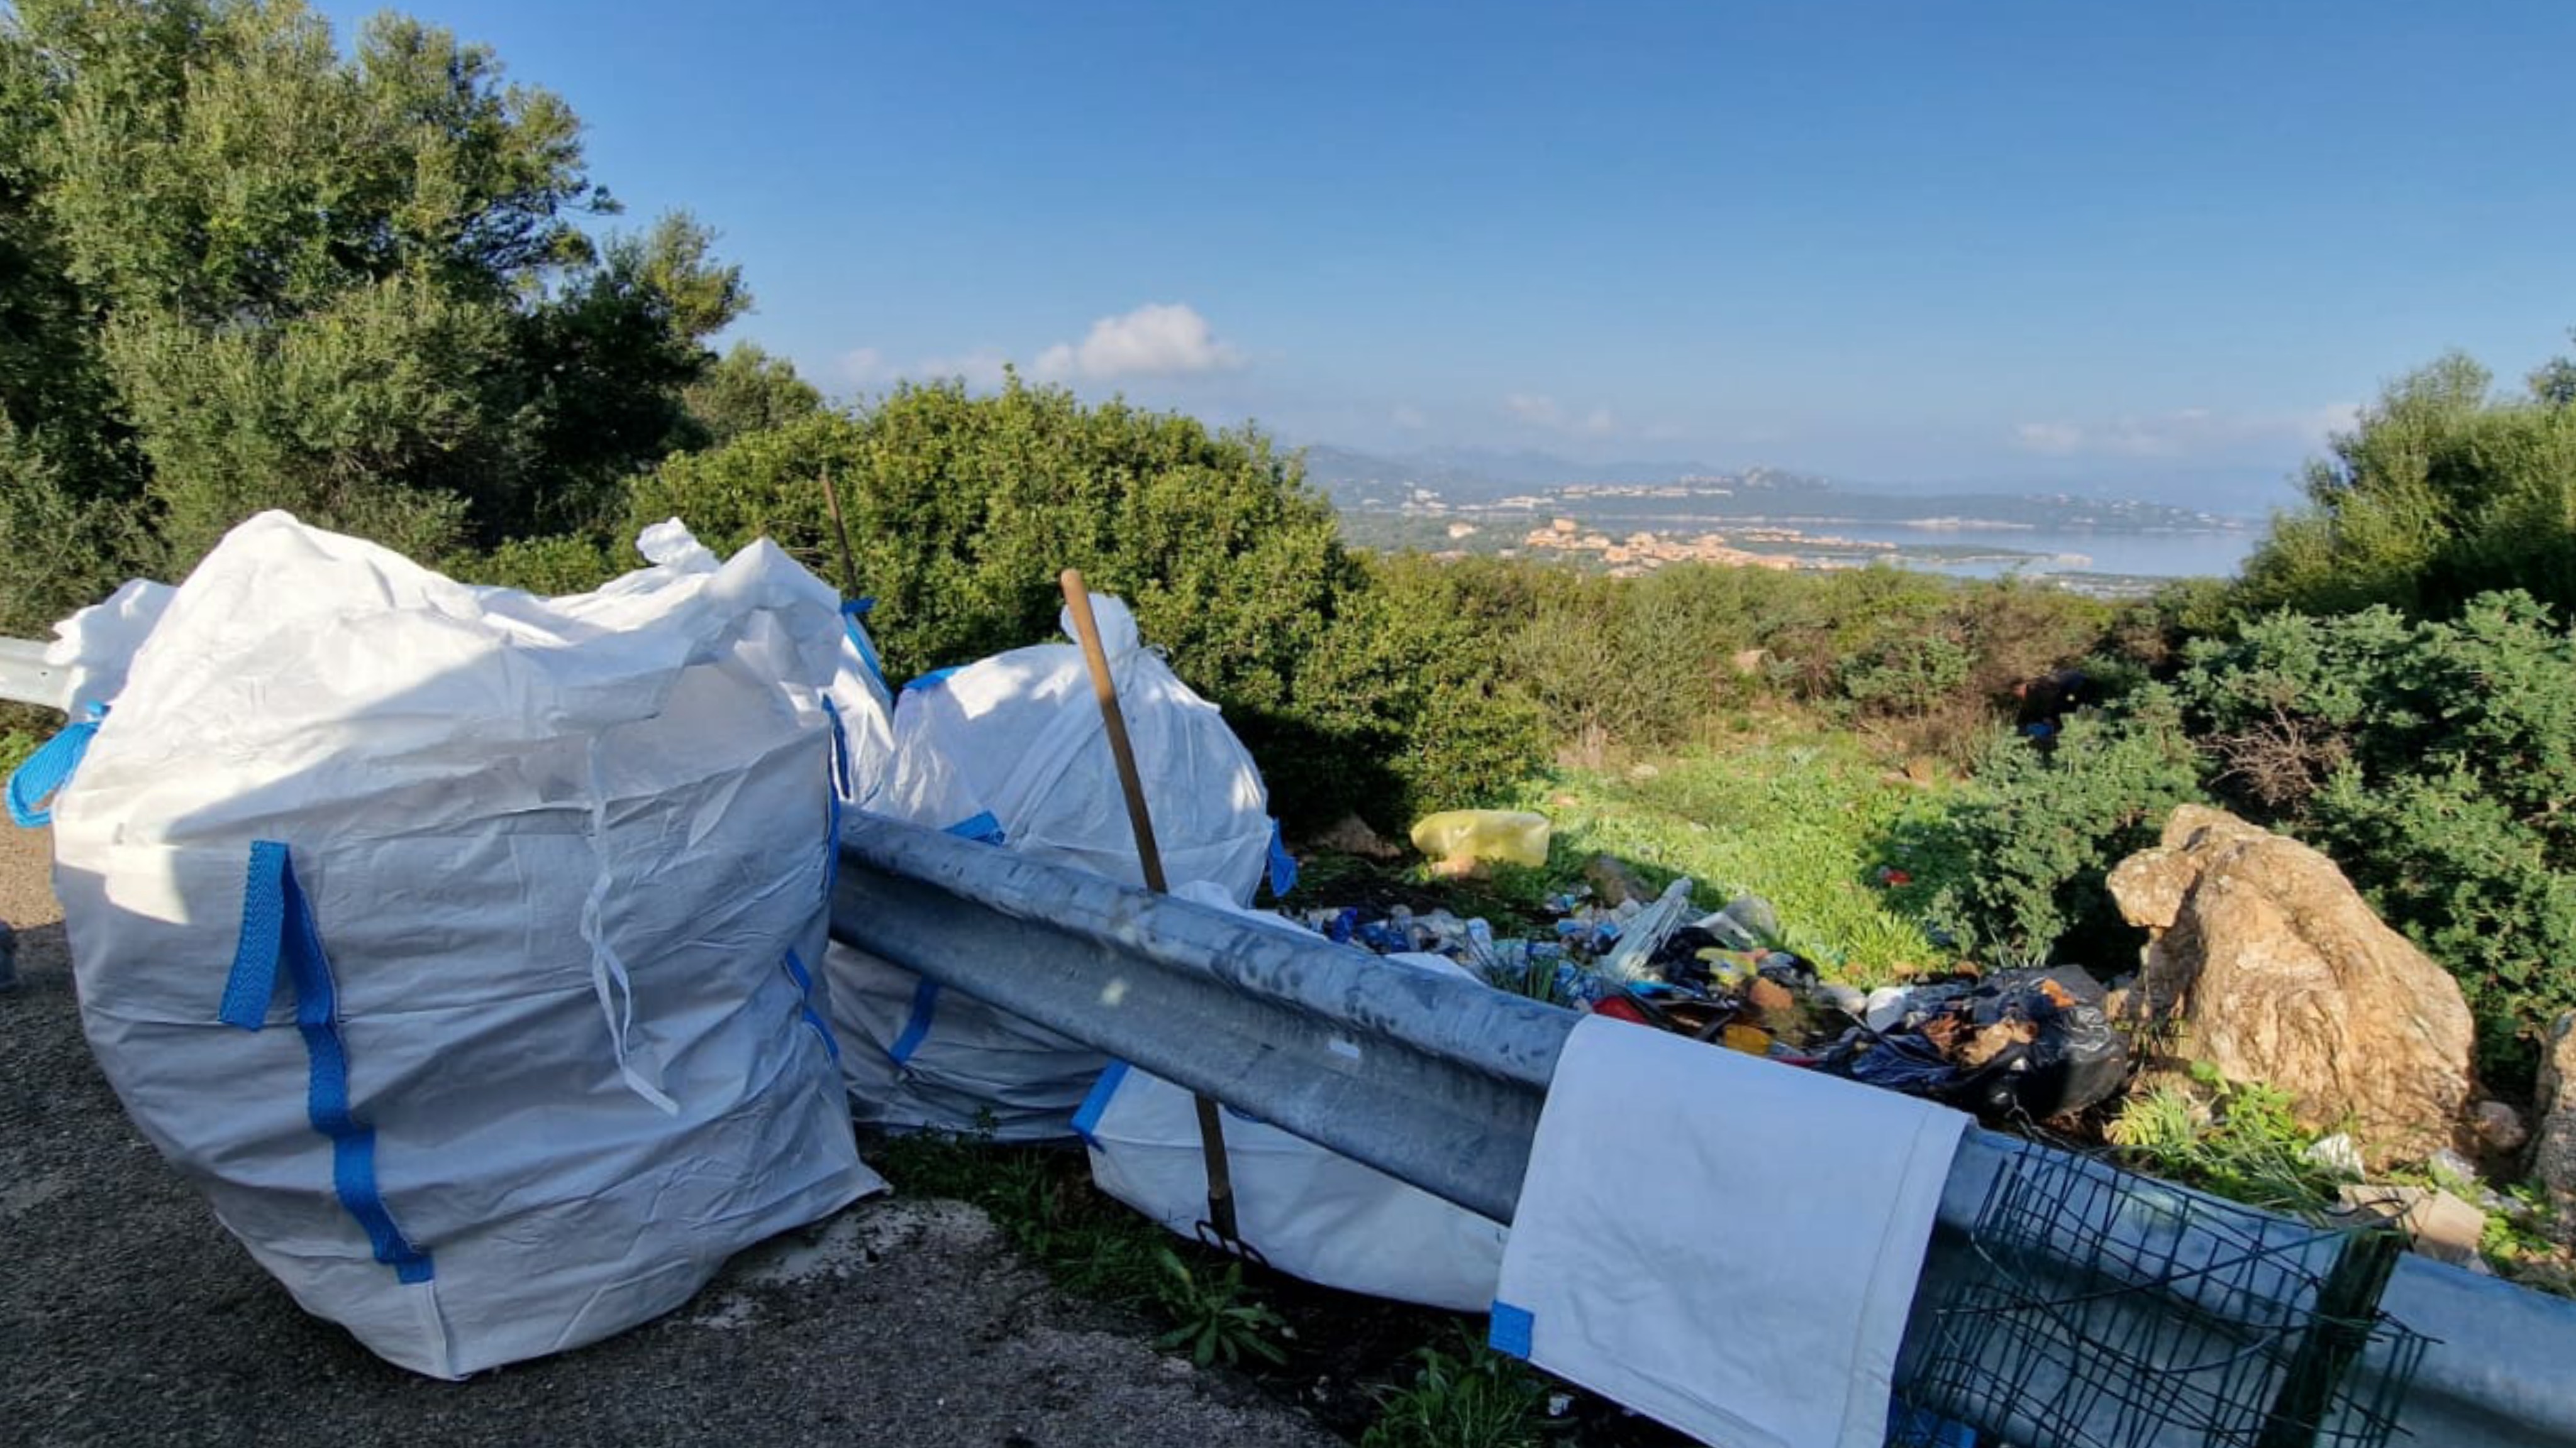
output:
M404 1368L605 1337L884 1185L806 987L832 590L706 564L549 600L263 513L57 794L108 1082Z

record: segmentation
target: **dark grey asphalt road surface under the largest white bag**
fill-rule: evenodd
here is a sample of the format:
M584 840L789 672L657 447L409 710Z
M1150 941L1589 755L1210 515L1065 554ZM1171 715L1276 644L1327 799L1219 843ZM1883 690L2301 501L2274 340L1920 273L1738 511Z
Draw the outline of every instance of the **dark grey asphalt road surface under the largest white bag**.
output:
M126 1123L80 1038L44 835L0 824L0 1443L1334 1443L940 1201L858 1203L580 1353L417 1378L296 1309Z

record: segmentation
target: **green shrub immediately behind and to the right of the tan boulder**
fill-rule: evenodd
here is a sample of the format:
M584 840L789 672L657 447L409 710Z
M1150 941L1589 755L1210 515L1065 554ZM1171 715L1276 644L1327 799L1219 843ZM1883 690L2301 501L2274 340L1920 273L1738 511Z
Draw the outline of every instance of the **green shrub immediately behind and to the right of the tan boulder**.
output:
M2210 786L2324 848L2460 976L2494 1085L2576 1005L2576 639L2522 593L2452 621L2277 613L2177 691Z

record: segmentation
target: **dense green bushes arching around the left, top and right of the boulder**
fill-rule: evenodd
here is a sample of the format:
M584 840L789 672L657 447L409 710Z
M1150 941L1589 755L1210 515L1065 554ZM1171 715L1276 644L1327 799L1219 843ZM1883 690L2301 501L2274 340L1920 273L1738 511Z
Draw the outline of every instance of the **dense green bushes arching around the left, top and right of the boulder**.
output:
M1996 956L2117 958L2102 873L2205 794L2326 850L2458 974L2494 1082L2527 1085L2576 1005L2576 639L2530 595L2251 618L2056 752L1996 745L1978 781L1953 822L1978 873L1945 915Z

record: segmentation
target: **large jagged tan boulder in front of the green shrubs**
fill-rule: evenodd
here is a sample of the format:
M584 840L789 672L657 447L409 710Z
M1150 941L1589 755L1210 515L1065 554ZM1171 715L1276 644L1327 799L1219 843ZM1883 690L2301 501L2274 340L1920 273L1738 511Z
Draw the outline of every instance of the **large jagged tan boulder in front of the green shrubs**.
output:
M2166 1051L2290 1092L2316 1131L2349 1121L2375 1165L2460 1141L2476 1100L2460 984L2334 861L2184 804L2110 891L2151 933L2130 1010L2169 1028Z

